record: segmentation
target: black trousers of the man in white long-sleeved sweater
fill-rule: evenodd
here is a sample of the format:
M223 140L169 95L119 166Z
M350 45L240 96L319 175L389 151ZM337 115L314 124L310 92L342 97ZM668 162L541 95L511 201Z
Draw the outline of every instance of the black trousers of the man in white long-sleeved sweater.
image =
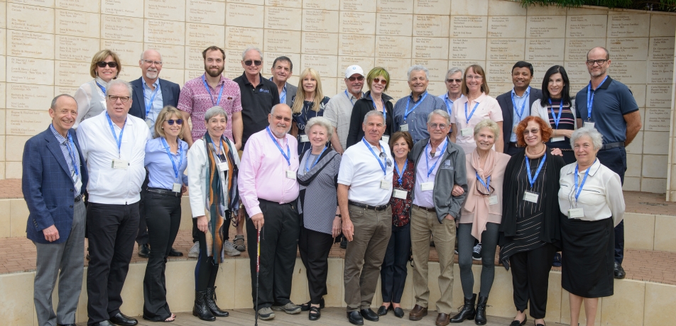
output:
M88 325L120 312L122 286L129 271L133 240L138 232L138 202L109 205L89 202Z

